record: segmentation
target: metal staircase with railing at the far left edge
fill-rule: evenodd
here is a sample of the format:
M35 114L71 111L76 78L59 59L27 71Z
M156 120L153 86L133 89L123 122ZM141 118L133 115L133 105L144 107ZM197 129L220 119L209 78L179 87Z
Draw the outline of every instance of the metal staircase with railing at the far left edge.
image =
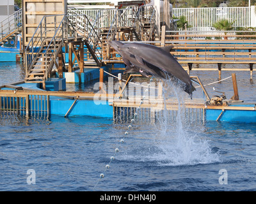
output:
M22 32L22 9L0 22L0 46Z

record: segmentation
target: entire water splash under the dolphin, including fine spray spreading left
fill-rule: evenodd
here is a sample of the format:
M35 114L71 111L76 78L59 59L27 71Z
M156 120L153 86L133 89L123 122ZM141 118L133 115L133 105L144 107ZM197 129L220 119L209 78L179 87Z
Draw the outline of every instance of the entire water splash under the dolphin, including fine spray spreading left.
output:
M153 127L147 125L140 131L136 131L138 137L144 137L144 140L138 142L141 145L134 145L134 149L129 153L127 152L123 159L152 162L157 166L219 162L220 154L212 151L209 138L204 136L204 125L191 123L184 117L186 93L173 85L170 80L166 84L168 88L163 89L163 97L173 97L174 94L179 103L176 119L174 121L170 119L168 111L164 110L162 117L157 120ZM136 141L133 142L136 143Z

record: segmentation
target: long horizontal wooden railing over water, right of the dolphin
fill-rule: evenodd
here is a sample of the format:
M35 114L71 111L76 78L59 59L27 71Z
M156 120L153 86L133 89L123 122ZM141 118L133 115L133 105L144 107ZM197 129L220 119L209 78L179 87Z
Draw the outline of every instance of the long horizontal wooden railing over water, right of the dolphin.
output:
M222 64L248 64L249 69L234 71L250 70L252 77L256 64L255 34L256 31L166 31L162 32L161 46L172 45L170 53L180 64L188 64L188 71L193 64L218 64L221 75Z

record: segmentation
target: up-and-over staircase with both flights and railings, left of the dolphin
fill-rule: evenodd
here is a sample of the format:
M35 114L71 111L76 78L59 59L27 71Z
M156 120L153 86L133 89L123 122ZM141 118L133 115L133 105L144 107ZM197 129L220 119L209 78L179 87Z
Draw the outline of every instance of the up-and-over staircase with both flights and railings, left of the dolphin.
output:
M54 17L54 22L47 20L52 17ZM86 45L96 66L100 67L102 65L99 48L100 36L86 16L51 15L43 17L24 51L25 82L42 83L45 88L45 80L50 77L54 66L58 69L67 69L63 60L63 47L78 41Z

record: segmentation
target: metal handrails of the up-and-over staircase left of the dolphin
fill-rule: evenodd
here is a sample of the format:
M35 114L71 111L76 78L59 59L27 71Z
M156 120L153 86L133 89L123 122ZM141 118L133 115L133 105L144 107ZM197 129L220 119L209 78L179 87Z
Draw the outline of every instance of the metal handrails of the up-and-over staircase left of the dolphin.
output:
M57 17L59 16L62 18L60 21L57 21ZM49 17L54 17L54 22L47 23L47 18ZM79 17L81 17L81 15L63 14L47 15L42 18L40 24L38 24L38 27L36 27L35 33L33 34L31 40L29 40L28 46L25 49L26 75L33 68L33 63L35 63L36 57L43 52L42 48L44 47L45 40L49 38L49 35L47 35L49 31L54 31L54 34L53 36L51 35L51 38L48 41L49 44L47 44L47 47L44 48L45 57L48 57L48 55L51 55L51 58L56 57L55 52L58 52L56 48L58 46L57 44L59 44L60 41L63 43L65 38L68 39L68 33L71 31L70 34L72 37L77 38L80 35L83 38L86 38L89 46L92 47L94 52L97 52L97 54L95 54L95 57L97 57L97 60L99 61L97 63L101 64L102 54L100 53L100 50L95 47L98 43L102 43L100 36L86 15L82 16L83 22L81 22L81 27L78 27L77 18ZM52 25L52 29L47 26L49 24ZM73 27L73 29L70 29L70 27ZM45 63L45 70L47 70L47 66L49 66L49 64ZM51 66L49 66L49 69L51 69ZM47 78L47 75L45 76Z

